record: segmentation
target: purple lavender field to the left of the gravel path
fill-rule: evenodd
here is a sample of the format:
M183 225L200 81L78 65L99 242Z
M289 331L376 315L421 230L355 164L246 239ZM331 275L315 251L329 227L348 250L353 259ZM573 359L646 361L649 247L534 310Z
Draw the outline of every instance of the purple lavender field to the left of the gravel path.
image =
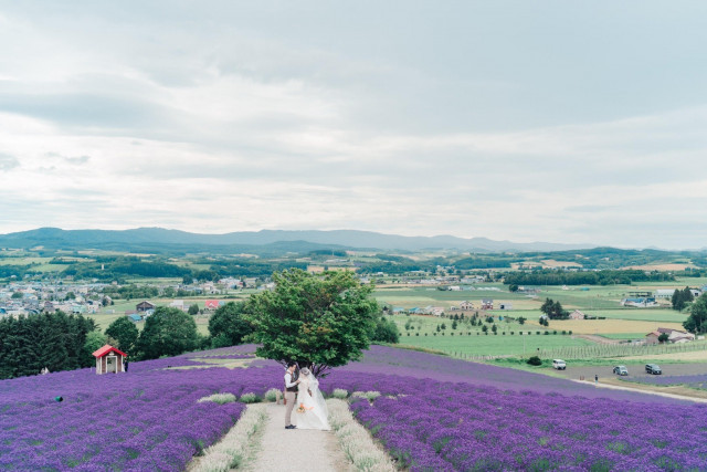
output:
M244 409L199 398L279 385L272 366L165 369L193 365L203 364L179 356L134 363L120 375L82 369L0 381L0 470L181 470Z

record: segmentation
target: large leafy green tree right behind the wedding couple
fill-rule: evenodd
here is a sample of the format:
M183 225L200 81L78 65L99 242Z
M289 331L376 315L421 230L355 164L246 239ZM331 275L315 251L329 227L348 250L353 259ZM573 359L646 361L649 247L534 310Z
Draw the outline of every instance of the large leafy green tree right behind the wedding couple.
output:
M273 282L273 291L249 300L258 356L309 366L316 377L361 358L379 313L372 285L348 271L315 276L299 269L275 272Z

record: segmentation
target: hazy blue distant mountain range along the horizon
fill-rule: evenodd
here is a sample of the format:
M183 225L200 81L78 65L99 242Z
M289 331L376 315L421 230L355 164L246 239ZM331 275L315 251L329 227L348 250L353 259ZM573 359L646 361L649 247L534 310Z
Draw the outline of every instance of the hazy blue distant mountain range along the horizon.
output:
M456 238L452 235L403 237L371 231L241 231L225 234L199 234L163 228L138 228L133 230L62 230L40 228L36 230L0 234L0 247L51 249L113 249L135 251L161 245L202 249L220 248L231 251L249 251L263 247L284 251L315 250L321 248L346 248L368 250L423 251L432 249L461 250L469 252L530 252L566 251L595 248L595 244L559 244L548 242L516 243L494 241L486 238ZM292 249L288 249L292 248ZM295 249L296 248L296 249ZM254 251L261 252L261 251Z

